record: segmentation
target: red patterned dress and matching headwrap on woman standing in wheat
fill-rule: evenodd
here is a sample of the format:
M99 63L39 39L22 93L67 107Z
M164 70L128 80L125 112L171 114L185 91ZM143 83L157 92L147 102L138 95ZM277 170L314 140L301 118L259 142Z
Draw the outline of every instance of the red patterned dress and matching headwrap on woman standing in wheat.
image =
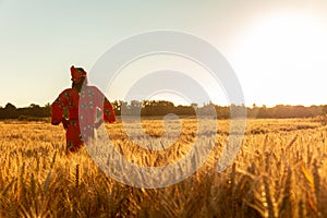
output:
M72 81L78 83L86 77L83 69L71 68ZM97 111L101 110L99 122L112 123L116 121L113 108L105 95L95 86L83 86L81 93L75 88L64 89L51 105L51 123L63 123L66 134L66 150L76 152L84 141L94 136ZM68 114L64 114L68 113ZM80 114L80 116L78 116ZM64 117L68 117L65 120ZM83 135L81 134L81 129Z

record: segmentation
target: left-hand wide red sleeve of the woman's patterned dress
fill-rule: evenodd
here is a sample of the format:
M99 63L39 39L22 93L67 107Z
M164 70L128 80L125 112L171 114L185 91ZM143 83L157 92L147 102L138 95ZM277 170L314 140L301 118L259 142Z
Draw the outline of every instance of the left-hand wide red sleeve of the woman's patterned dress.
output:
M63 109L68 106L68 89L63 90L51 105L51 124L58 125L63 118Z

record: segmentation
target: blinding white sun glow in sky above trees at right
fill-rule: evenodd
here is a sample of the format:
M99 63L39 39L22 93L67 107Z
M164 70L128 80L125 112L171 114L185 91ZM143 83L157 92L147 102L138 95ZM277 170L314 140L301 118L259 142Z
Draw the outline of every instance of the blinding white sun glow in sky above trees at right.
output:
M312 95L313 101L303 104L314 104L322 93L310 92L318 92L326 81L324 25L310 15L275 14L261 19L242 35L234 49L233 65L250 90L245 94L247 104L296 104L303 102L305 95ZM284 96L276 98L280 92Z

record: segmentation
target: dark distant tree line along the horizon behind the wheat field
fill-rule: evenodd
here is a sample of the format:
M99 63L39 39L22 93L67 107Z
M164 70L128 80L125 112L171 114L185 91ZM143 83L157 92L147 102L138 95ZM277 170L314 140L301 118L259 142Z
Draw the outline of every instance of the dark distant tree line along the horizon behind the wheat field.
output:
M230 118L231 109L238 111L238 109L245 109L247 118L310 118L316 116L323 116L327 113L327 105L322 106L289 106L277 105L275 107L256 106L217 106L213 102L198 106L197 104L191 104L190 106L175 106L173 102L166 100L132 100L130 102L122 100L114 100L111 102L117 116L135 116L141 114L144 117L149 116L166 116L168 113L174 113L177 116L196 116L197 111L202 114L210 113L209 108L215 108L218 119ZM20 119L20 120L37 120L49 118L51 116L51 106L47 104L39 106L32 104L28 107L16 108L14 105L8 102L5 107L0 107L0 119Z

